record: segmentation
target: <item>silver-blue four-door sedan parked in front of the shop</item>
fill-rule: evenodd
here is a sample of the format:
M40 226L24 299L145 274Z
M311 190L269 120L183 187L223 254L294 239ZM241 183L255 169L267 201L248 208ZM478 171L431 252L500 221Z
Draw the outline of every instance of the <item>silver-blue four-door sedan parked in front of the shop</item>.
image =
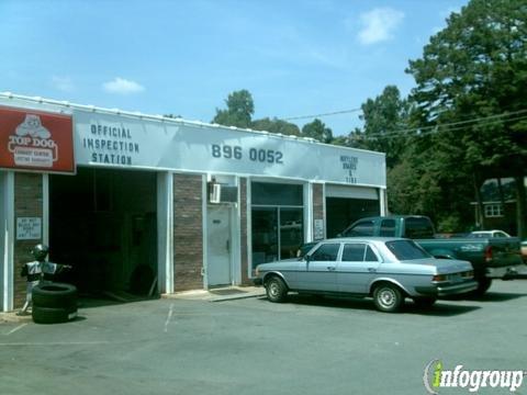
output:
M271 302L288 292L372 296L381 312L396 312L411 297L431 306L437 297L478 287L468 261L436 259L410 239L357 237L316 244L304 257L262 263L255 284Z

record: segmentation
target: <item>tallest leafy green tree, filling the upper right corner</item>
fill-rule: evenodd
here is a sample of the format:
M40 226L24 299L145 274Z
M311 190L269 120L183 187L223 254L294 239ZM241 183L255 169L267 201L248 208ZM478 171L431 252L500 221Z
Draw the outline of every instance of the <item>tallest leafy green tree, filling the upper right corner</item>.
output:
M525 0L471 0L410 61L415 115L439 183L471 184L478 195L485 178L525 177L526 23ZM516 184L525 196L524 183ZM525 235L525 201L518 203Z

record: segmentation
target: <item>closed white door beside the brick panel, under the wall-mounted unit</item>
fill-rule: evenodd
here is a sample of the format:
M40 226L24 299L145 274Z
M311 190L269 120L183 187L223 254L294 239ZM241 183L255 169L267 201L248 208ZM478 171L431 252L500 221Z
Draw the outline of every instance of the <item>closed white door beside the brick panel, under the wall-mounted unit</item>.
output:
M231 208L208 210L208 282L209 286L232 284Z

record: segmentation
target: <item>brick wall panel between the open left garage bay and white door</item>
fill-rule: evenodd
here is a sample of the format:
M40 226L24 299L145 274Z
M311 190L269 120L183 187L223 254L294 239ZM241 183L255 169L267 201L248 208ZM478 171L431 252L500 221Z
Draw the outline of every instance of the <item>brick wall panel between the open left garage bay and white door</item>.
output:
M175 290L202 290L203 276L202 177L173 174Z

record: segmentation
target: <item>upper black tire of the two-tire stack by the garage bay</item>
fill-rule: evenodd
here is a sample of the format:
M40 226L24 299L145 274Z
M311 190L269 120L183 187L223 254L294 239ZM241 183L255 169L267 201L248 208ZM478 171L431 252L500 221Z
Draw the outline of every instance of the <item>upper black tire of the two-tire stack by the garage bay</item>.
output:
M65 283L44 283L33 287L34 306L48 308L77 307L77 287Z

